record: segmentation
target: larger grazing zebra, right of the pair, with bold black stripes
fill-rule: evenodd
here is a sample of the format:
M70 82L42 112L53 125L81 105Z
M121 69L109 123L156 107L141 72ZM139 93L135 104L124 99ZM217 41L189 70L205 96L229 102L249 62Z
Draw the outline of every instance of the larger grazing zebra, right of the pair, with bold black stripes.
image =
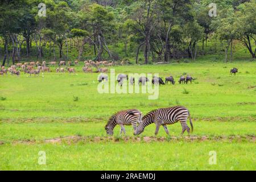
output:
M178 121L180 121L182 126L182 134L184 134L185 130L187 130L188 134L190 133L190 129L187 125L187 118L189 117L190 125L193 131L193 125L191 121L191 117L187 108L183 106L175 106L175 107L167 107L155 109L144 115L142 118L142 122L139 123L137 129L135 130L135 135L139 135L144 131L144 128L151 123L155 123L155 135L158 134L159 127L162 125L166 134L169 135L169 131L166 125L172 125Z

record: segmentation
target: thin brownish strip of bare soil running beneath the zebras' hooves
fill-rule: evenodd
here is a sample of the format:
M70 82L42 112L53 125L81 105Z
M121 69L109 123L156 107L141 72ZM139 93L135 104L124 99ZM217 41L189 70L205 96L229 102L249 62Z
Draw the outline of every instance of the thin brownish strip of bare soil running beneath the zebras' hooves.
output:
M35 143L51 143L51 144L75 144L75 143L98 143L98 142L204 142L204 141L247 141L255 143L255 135L231 135L231 136L169 136L169 137L80 137L69 136L61 138L53 138L46 140L16 140L13 143L35 144ZM1 142L0 142L1 144ZM3 144L3 143L2 143Z

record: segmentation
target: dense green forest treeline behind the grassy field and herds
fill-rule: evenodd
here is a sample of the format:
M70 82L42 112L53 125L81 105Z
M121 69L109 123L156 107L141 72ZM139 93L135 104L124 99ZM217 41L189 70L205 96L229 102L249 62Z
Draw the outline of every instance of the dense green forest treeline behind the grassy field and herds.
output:
M215 11L210 3L216 3L216 15L209 15ZM84 60L85 47L93 52L94 60L102 60L105 54L116 61L129 57L129 52L134 52L135 63L139 53L144 64L150 59L195 60L199 43L204 49L208 39L223 45L226 61L234 41L255 58L255 9L255 0L3 0L2 64L29 58L32 47L37 59L44 59L49 49L54 60L67 60L71 40L78 60ZM120 43L123 48L114 50Z

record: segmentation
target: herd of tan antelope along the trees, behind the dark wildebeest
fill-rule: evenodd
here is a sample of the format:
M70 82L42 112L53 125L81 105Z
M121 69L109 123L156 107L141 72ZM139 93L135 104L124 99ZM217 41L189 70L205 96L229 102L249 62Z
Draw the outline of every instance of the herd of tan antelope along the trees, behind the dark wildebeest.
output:
M75 65L79 65L79 61L75 60L74 61ZM121 61L121 65L124 65L124 61ZM0 75L8 75L8 73L11 73L11 75L16 75L20 76L20 72L24 72L24 74L28 74L30 76L39 76L40 72L51 72L51 68L55 68L56 73L65 73L67 71L68 73L76 73L75 68L71 68L73 65L72 61L50 61L48 64L46 61L43 61L40 63L39 61L31 61L27 63L17 63L16 65L11 65L9 68L5 68L2 66L0 68ZM84 73L92 73L93 69L96 68L96 73L101 72L101 73L108 73L108 68L107 67L113 67L117 65L116 62L112 61L84 61L84 67L82 67L82 71ZM103 67L103 68L102 68Z

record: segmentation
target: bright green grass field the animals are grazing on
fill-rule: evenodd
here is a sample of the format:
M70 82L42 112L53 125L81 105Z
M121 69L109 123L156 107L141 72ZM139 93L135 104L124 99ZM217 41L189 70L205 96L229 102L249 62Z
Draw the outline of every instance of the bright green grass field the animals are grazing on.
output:
M51 67L51 73L40 77L27 77L24 73L20 77L0 76L0 170L256 169L255 61L207 60L113 67L116 74L174 76L175 86L160 86L158 100L148 100L149 94L99 94L98 74L82 73L81 67L82 63L75 67L77 75L55 73ZM233 67L239 73L229 76ZM196 80L188 85L178 84L183 73ZM194 125L191 137L210 139L168 140L160 128L158 137L167 137L162 142L134 142L132 138L45 142L68 136L106 137L104 126L118 110L137 108L146 114L152 109L175 105L183 105L191 112ZM115 128L115 138L119 138L119 129ZM180 136L179 123L168 129L171 136ZM154 130L154 125L146 127L141 137L154 136ZM126 131L133 137L131 126L126 126ZM225 139L230 136L241 138ZM46 165L38 164L39 151L46 152ZM217 152L216 165L209 165L209 151Z

